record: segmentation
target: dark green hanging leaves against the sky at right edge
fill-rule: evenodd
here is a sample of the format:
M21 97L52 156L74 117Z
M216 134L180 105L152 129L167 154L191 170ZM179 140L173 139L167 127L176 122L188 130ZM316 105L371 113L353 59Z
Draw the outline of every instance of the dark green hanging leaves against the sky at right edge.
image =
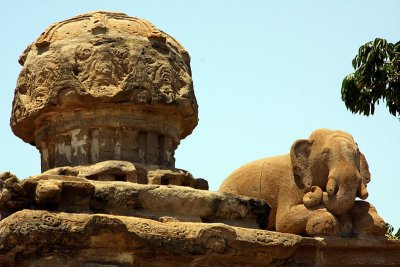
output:
M390 114L400 115L400 41L375 39L360 47L352 61L355 72L342 83L342 100L353 113L373 115L382 99Z

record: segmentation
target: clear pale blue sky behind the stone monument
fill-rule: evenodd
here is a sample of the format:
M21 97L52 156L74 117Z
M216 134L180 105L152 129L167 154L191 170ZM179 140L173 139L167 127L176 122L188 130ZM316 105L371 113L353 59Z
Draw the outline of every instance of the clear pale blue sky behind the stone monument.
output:
M289 152L317 128L353 134L370 164L370 197L400 227L400 121L384 106L353 115L340 98L360 45L400 40L400 1L3 1L0 171L40 172L39 153L9 127L17 60L51 23L94 10L145 18L190 53L199 125L177 167L217 190L240 165Z

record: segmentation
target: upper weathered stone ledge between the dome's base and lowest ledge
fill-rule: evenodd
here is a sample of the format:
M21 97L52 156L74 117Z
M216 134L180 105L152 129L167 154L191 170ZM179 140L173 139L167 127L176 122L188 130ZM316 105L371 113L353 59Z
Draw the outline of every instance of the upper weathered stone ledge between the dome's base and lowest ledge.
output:
M222 222L250 228L265 228L268 220L269 206L263 201L188 187L49 174L13 181L0 192L3 217L25 208L119 214L159 221L170 217L176 221Z

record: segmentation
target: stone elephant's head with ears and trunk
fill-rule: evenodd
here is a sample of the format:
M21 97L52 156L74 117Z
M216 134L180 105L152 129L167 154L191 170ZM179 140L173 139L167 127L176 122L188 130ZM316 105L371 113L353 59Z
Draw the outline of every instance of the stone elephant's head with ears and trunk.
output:
M323 204L333 214L348 213L356 197L366 199L368 163L353 137L343 131L319 129L309 139L297 140L290 158L294 179L304 192L318 186Z

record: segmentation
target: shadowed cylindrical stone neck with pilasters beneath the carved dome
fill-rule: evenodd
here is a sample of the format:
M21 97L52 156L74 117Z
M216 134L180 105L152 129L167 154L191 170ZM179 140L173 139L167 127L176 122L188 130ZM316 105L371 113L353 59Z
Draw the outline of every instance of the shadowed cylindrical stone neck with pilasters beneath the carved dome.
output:
M171 118L132 108L47 115L36 131L42 172L105 160L174 167L180 125Z

